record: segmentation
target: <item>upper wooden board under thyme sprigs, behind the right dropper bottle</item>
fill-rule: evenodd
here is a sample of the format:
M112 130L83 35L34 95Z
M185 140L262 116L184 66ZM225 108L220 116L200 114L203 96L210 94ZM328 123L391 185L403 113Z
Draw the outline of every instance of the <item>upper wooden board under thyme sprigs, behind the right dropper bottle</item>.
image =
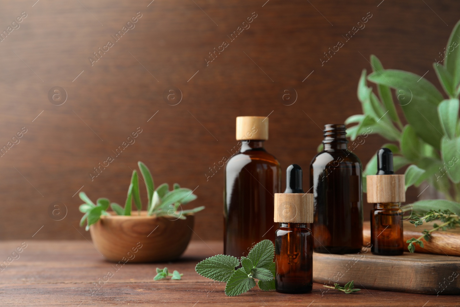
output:
M411 224L409 221L404 221L403 234L405 250L408 250L408 243L406 243L407 240L412 239L413 237L420 237L423 229L432 229L433 223L434 222L424 223L422 226L415 227L414 224ZM460 228L450 229L449 232L432 232L431 236L433 239L429 242L422 239L425 248L422 249L420 246L415 245L415 252L460 256ZM364 246L368 245L370 238L370 222L365 221L362 230L362 243Z

